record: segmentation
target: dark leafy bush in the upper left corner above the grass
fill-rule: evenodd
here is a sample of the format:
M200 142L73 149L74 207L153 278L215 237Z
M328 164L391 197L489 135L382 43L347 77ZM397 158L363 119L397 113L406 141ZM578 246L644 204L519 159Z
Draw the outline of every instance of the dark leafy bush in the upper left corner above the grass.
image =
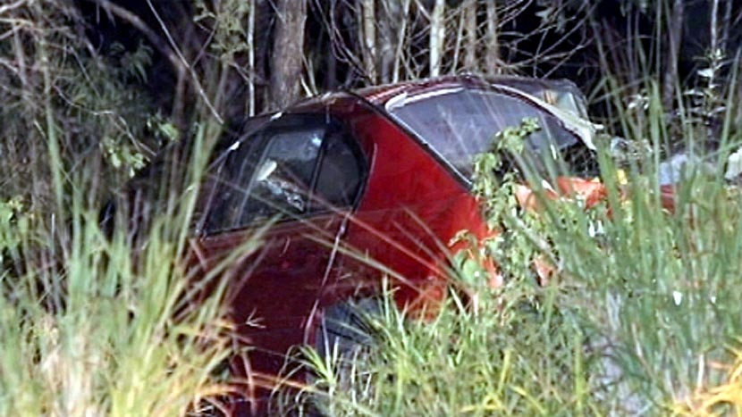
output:
M150 48L139 44L126 51L114 44L99 55L76 33L84 24L76 10L55 2L21 4L5 18L0 31L13 42L0 48L3 62L9 63L0 90L3 146L6 158L17 161L4 164L8 177L21 175L16 182L28 184L40 172L50 174L41 152L50 139L50 122L59 132L67 175L95 161L91 156L97 149L114 171L131 175L159 146L143 138L150 107L143 90L134 87L146 81ZM46 112L52 120L46 120ZM4 192L10 197L26 189Z

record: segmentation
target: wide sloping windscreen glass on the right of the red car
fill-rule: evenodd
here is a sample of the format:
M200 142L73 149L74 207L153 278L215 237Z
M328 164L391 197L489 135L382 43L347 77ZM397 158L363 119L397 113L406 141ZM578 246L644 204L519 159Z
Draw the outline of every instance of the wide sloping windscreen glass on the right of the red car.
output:
M471 178L474 156L491 149L498 132L526 118L534 118L540 127L527 138L526 152L557 156L580 143L552 114L497 91L451 88L392 99L386 107L466 178Z

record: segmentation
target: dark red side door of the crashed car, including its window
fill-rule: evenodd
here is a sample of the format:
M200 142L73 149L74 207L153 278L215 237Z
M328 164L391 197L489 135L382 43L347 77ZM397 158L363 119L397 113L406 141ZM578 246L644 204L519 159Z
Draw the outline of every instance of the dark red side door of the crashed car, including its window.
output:
M238 255L225 273L232 321L250 346L241 365L275 374L291 346L310 337L365 158L340 121L289 114L228 146L213 171L218 186L203 197L198 251L213 266L265 230L257 253Z

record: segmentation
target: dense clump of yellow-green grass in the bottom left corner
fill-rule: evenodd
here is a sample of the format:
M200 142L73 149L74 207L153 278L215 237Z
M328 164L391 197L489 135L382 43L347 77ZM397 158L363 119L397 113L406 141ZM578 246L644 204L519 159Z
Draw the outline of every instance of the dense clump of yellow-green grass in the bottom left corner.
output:
M178 415L223 389L210 375L230 352L218 296L176 318L175 246L153 238L132 256L78 220L61 264L4 274L0 414Z

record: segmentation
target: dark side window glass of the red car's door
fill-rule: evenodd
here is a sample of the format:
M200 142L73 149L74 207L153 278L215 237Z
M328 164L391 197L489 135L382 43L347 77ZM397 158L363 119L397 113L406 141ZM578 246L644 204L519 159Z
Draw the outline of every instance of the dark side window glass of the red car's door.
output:
M355 141L325 115L284 116L227 152L207 233L350 206L363 178Z

